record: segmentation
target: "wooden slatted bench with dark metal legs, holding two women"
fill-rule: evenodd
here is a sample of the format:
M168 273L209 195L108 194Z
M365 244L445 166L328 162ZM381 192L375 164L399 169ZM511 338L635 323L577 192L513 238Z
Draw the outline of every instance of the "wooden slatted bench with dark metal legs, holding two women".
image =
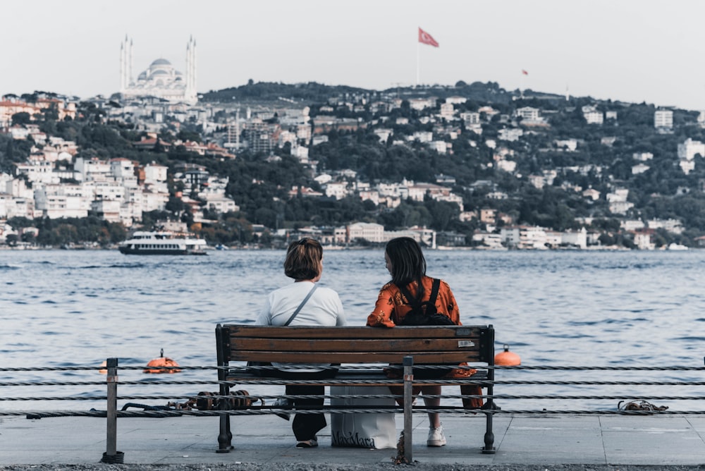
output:
M486 429L483 453L494 453L492 432L493 384L494 384L494 328L493 326L398 326L383 329L367 326L252 326L218 324L216 326L216 348L218 355L218 379L220 396L229 396L235 384L322 384L324 386L403 386L404 391L404 443L405 453L410 456L412 429L412 385L440 384L460 386L461 395L472 391L472 386L487 388L484 412ZM239 365L231 365L239 362ZM335 377L305 381L283 379L268 370L253 371L245 362L293 362L341 364ZM468 362L478 369L472 377L460 379L414 380L414 365L458 365ZM400 379L390 379L384 372L387 364L404 365ZM457 397L457 396L456 396ZM463 396L461 396L463 398ZM464 398L465 399L465 398ZM465 402L465 400L463 401ZM233 406L221 401L221 410L233 410ZM441 405L438 412L450 410ZM455 408L457 409L462 408ZM324 405L319 413L334 412ZM395 410L401 412L401 410ZM436 411L434 409L434 411ZM281 413L282 410L262 408L262 413ZM386 410L385 412L390 412ZM470 413L470 412L468 412ZM220 415L218 436L219 453L231 448L231 414Z

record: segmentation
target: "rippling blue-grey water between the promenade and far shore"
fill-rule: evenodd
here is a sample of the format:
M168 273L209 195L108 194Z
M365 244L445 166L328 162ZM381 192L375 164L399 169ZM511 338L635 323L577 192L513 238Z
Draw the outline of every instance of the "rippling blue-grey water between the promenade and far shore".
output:
M426 252L430 276L448 281L464 324L494 324L523 365L701 367L705 349L705 251L688 252ZM0 252L0 360L4 367L143 366L164 354L180 365L216 365L217 323L250 323L265 293L290 280L284 252L214 251L208 257L135 257L114 251ZM364 325L379 287L388 281L381 250L327 250L321 283L338 291L351 325ZM18 373L1 373L17 381ZM537 372L503 372L503 379ZM94 380L96 372L23 373L22 378ZM600 375L598 375L599 377ZM151 378L165 379L166 375ZM215 372L187 371L178 379L214 379ZM121 380L147 378L121 372ZM176 378L176 375L169 379ZM592 377L595 378L594 376ZM587 379L565 372L560 379ZM603 379L693 379L701 372L620 373ZM177 386L178 387L178 386ZM213 386L180 386L192 394ZM48 391L48 392L47 392ZM131 393L164 393L165 386ZM169 389L172 391L173 389ZM637 386L498 387L496 393L624 395ZM104 395L104 387L47 386L42 394ZM252 391L251 391L252 392ZM700 386L657 387L654 395L703 396ZM121 387L121 393L125 390ZM4 395L36 396L15 388ZM627 396L628 397L628 396ZM614 408L616 400L590 405ZM653 401L679 410L694 401ZM155 402L150 402L154 404ZM159 401L157 401L159 403ZM75 404L72 405L76 407ZM532 400L511 408L546 407ZM585 403L572 401L572 408ZM32 404L56 408L57 403ZM0 402L3 409L25 409ZM704 407L705 408L705 407Z

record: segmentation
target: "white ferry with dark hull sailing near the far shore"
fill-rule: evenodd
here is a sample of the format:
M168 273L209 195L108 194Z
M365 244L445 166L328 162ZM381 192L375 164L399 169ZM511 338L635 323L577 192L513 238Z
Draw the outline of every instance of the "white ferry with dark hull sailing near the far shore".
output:
M125 255L206 255L205 248L203 239L180 237L166 231L136 231L118 245L118 250Z

